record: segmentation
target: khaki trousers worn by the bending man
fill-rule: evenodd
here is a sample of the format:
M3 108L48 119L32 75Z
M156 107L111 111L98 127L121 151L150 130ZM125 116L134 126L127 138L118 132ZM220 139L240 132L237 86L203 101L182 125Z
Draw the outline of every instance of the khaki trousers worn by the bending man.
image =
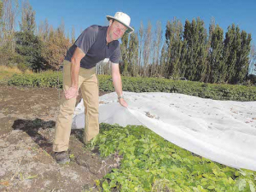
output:
M64 61L63 90L68 90L71 86L70 69L71 62ZM99 88L96 77L96 67L90 69L80 68L79 88L84 99L84 143L87 143L99 133ZM63 93L60 113L55 128L55 140L53 144L53 151L55 152L67 151L75 103L76 98L67 100Z

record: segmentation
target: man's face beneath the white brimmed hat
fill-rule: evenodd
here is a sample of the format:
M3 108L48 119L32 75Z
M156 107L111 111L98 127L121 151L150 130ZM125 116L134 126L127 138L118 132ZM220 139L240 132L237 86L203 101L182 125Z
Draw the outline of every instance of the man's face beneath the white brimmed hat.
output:
M127 27L116 20L109 21L108 36L111 41L122 38Z

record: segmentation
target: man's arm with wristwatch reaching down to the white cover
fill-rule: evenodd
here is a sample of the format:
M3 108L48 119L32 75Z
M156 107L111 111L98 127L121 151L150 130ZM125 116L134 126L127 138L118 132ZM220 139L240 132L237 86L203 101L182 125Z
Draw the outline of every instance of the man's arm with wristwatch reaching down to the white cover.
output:
M114 90L118 96L123 96L122 80L121 80L121 75L119 71L119 64L112 63L111 67L112 67L112 79L113 79ZM119 98L119 103L125 108L128 107L128 104L125 102L124 98Z

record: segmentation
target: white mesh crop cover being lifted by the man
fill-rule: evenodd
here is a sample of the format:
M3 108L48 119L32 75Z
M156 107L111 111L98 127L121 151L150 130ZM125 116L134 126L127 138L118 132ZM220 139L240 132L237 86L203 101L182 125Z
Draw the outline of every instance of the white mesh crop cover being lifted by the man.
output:
M182 148L226 166L256 171L256 102L215 101L173 93L125 92L128 108L115 93L100 97L99 121L145 125ZM73 128L84 128L84 104Z

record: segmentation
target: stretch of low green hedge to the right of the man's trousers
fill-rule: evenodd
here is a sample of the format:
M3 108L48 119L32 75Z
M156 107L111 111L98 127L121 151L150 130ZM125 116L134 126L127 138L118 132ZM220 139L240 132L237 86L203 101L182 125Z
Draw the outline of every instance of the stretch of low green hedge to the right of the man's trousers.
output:
M256 101L255 86L128 77L122 77L122 82L123 90L132 92L172 92L216 100ZM105 91L114 90L110 76L100 77L100 89Z

